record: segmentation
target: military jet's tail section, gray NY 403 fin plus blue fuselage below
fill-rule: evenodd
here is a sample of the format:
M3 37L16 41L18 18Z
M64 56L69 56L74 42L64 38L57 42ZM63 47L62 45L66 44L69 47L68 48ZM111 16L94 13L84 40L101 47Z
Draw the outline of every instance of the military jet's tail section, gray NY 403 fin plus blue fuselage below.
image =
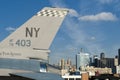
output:
M0 43L0 75L47 72L49 47L67 9L45 7Z

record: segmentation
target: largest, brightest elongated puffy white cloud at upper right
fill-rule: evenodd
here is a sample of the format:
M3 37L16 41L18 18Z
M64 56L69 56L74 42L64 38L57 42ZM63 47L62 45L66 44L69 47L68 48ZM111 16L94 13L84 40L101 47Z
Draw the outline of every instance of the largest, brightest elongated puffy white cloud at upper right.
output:
M102 12L96 15L86 15L79 18L83 21L115 21L117 17L110 12Z

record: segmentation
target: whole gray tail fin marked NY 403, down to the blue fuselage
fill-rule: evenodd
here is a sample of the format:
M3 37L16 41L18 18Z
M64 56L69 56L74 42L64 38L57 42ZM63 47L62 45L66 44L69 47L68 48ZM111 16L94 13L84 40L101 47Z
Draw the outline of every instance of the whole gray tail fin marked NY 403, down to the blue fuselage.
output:
M0 44L0 58L48 59L49 47L68 10L44 8Z

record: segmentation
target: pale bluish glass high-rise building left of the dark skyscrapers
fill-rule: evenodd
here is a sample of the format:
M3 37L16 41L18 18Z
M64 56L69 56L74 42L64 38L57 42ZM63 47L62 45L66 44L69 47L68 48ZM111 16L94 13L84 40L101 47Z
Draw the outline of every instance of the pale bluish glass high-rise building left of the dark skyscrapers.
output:
M76 55L76 68L79 69L82 66L89 66L90 55L88 53L79 52Z

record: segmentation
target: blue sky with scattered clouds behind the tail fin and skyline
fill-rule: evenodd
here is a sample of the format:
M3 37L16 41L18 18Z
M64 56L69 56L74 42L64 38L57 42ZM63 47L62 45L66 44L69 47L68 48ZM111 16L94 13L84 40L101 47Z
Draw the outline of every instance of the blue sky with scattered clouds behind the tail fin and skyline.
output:
M120 0L0 0L0 41L44 7L69 9L50 47L51 63L75 63L81 48L91 55L118 54Z

